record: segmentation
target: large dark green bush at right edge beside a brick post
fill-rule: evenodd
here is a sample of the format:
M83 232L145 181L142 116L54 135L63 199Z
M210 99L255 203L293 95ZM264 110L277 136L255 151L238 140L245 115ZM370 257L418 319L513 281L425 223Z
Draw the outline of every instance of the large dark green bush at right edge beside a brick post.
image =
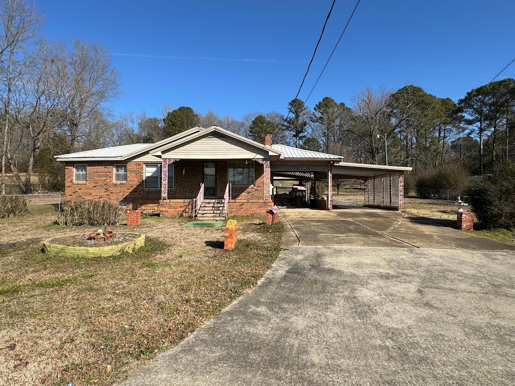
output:
M467 190L479 222L487 229L515 229L515 162L495 166Z

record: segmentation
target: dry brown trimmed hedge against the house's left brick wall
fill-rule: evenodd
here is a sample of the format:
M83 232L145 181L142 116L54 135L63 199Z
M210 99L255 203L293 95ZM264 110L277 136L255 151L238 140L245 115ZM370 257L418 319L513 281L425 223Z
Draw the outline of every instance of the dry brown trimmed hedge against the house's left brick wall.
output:
M116 225L124 218L124 208L109 201L71 201L61 203L59 225Z

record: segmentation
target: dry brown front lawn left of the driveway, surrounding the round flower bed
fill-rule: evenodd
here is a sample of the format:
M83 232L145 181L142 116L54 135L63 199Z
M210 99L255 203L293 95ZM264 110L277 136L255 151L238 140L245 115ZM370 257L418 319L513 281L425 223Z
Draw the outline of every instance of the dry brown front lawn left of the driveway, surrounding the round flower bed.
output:
M282 224L224 229L147 218L145 250L99 259L48 257L41 241L84 227L52 217L0 221L0 384L111 384L177 344L248 292L278 256ZM127 231L127 226L113 230Z

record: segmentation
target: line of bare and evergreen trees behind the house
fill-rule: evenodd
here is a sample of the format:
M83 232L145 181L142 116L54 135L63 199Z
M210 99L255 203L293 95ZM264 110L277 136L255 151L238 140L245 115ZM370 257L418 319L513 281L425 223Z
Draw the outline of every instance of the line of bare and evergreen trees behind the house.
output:
M64 171L53 156L101 147L153 143L195 126L220 126L256 142L344 156L346 162L414 167L415 174L457 165L483 174L515 153L515 80L479 86L453 101L416 85L397 91L370 87L351 106L330 96L311 110L300 99L282 112L253 112L236 119L194 107L161 116L114 116L107 103L120 92L108 52L76 40L49 42L25 0L0 0L0 194L6 174L19 190L62 189ZM38 184L32 186L32 175Z

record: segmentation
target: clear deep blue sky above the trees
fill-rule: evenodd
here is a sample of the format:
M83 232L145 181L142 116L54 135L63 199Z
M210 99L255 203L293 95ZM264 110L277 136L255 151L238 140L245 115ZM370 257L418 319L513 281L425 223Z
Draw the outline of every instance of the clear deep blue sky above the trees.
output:
M189 106L236 119L287 112L331 0L36 0L49 40L96 42L122 83L115 113L159 116ZM305 100L357 0L337 0ZM366 87L415 84L453 100L515 58L512 0L362 0L307 106L325 96L352 106ZM515 63L497 79L515 78Z

